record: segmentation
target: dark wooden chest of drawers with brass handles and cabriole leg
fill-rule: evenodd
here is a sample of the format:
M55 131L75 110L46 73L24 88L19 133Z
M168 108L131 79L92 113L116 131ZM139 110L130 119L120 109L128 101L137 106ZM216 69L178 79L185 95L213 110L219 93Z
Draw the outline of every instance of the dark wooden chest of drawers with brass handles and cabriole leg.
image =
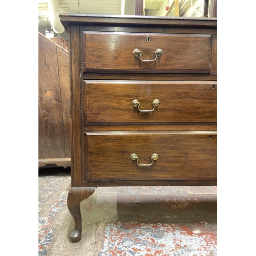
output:
M61 14L69 34L71 188L217 185L217 19Z

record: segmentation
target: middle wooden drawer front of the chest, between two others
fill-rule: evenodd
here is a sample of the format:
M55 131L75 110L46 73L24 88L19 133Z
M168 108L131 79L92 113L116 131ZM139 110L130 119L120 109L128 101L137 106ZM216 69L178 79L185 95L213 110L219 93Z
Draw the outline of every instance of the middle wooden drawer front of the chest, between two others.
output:
M84 90L87 123L217 122L215 81L85 80Z

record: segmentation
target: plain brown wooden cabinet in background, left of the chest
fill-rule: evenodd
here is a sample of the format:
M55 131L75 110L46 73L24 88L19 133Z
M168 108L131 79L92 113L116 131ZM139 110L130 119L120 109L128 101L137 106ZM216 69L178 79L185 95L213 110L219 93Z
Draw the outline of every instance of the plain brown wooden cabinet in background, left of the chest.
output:
M38 167L71 166L69 52L38 32Z

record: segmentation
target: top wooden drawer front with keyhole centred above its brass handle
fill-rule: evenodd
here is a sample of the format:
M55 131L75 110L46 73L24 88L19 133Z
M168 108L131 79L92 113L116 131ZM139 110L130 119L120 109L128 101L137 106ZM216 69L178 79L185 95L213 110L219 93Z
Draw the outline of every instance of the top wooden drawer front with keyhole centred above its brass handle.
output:
M210 73L211 48L211 34L83 32L83 72Z

